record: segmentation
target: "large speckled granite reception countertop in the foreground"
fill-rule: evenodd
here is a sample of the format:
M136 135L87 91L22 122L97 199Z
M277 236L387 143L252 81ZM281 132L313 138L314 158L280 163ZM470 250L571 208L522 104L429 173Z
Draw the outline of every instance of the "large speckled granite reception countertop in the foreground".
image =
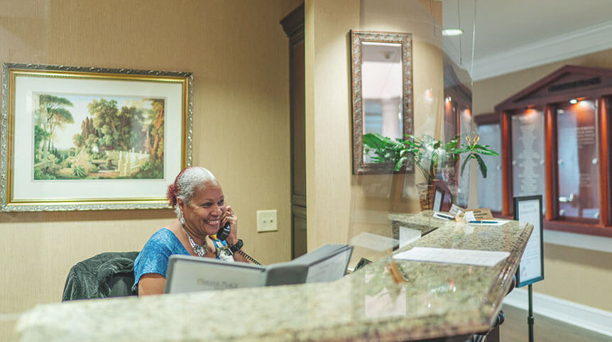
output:
M22 341L403 341L486 331L532 226L450 222L401 248L503 250L493 267L387 258L336 282L46 304L21 316Z

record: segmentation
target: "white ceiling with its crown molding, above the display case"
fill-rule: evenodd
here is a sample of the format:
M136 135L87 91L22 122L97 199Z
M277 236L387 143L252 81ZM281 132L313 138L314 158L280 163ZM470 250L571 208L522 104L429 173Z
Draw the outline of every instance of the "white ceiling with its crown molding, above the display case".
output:
M444 51L486 79L611 49L611 16L612 0L442 0L443 27L464 30Z

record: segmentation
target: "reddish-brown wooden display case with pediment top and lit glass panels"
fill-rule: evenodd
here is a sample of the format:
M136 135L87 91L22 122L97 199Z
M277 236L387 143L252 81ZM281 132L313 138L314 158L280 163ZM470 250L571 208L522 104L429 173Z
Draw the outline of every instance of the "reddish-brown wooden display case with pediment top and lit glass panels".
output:
M542 194L545 228L612 236L612 70L567 65L495 107L502 138L502 215Z

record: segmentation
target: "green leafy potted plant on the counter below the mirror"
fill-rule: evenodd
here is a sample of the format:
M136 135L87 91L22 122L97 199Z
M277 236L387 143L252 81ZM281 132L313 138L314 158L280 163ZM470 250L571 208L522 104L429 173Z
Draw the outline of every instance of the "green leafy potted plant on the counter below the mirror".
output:
M405 162L412 161L425 177L427 183L419 186L421 199L425 197L425 207L421 201L422 209L431 209L430 194L432 184L437 177L438 168L442 165L457 165L461 156L460 172L463 175L467 162L475 159L478 162L482 177L486 178L486 164L481 155L498 155L489 145L479 144L480 136L474 132L466 134L467 143L459 143L460 136L454 136L448 143L437 140L432 136L423 135L421 138L406 135L406 139L391 139L378 133L364 135L364 151L373 162L393 162L395 172L398 172Z

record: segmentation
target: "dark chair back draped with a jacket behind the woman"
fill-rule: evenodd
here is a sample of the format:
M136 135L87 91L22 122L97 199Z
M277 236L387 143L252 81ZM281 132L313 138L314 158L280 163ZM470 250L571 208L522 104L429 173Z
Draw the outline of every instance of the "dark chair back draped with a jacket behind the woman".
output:
M134 284L134 260L139 252L109 252L94 255L70 268L62 302L129 296Z

